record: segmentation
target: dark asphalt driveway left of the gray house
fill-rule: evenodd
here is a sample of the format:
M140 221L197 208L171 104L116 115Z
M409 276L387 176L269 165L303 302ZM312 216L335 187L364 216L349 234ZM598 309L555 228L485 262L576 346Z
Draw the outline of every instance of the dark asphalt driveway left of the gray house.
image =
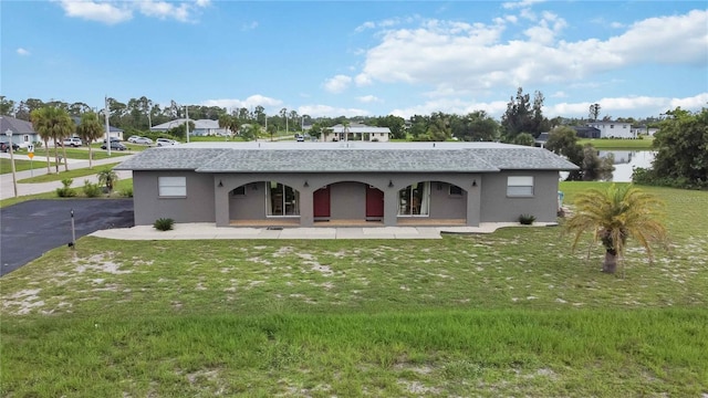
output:
M133 227L133 199L30 200L0 209L0 275L102 229Z

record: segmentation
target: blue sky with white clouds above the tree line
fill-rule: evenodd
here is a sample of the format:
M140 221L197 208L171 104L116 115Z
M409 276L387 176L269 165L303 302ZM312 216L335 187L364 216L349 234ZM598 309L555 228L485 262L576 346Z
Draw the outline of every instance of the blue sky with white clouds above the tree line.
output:
M2 1L0 93L409 117L708 106L706 1Z

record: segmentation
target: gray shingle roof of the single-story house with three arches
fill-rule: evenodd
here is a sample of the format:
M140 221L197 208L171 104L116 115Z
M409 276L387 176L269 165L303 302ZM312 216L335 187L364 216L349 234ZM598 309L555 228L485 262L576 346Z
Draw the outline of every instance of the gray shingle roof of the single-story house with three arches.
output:
M494 172L502 169L573 170L576 166L542 148L490 143L445 145L357 143L198 143L147 149L123 161L123 170L198 172Z

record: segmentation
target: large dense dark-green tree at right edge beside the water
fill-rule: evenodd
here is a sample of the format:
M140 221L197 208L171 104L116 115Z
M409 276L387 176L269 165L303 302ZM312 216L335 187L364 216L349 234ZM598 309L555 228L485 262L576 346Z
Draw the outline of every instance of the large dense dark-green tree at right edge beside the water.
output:
M708 187L708 108L666 113L654 138L652 169L658 179L681 187Z

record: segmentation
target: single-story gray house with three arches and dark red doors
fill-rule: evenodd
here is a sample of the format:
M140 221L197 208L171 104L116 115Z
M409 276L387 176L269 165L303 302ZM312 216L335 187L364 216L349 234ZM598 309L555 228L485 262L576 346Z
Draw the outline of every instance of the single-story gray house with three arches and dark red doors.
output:
M479 226L556 220L553 153L499 143L191 143L150 148L133 170L136 226Z

